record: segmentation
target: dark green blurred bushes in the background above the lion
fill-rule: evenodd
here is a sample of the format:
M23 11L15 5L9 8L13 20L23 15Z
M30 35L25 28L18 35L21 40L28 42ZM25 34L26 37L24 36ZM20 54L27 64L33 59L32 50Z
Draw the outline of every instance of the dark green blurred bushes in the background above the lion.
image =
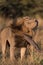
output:
M43 17L43 0L0 0L0 13L6 12L10 16L35 16ZM14 12L15 11L15 12Z

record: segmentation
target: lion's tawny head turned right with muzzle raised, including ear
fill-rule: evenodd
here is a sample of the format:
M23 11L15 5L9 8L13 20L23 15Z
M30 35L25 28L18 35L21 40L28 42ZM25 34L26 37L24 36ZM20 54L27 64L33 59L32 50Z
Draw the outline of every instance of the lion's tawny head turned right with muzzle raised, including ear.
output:
M38 21L34 18L28 16L17 18L16 26L22 25L22 31L28 33L29 35L34 34L34 30L38 26Z

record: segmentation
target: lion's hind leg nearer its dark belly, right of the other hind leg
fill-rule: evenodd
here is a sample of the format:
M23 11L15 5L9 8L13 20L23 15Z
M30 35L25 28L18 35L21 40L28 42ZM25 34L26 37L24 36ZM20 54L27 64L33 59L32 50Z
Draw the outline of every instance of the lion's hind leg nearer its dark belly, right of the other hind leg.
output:
M10 37L8 39L9 44L10 44L10 60L13 61L14 60L14 50L15 50L15 41L14 41L14 37Z

